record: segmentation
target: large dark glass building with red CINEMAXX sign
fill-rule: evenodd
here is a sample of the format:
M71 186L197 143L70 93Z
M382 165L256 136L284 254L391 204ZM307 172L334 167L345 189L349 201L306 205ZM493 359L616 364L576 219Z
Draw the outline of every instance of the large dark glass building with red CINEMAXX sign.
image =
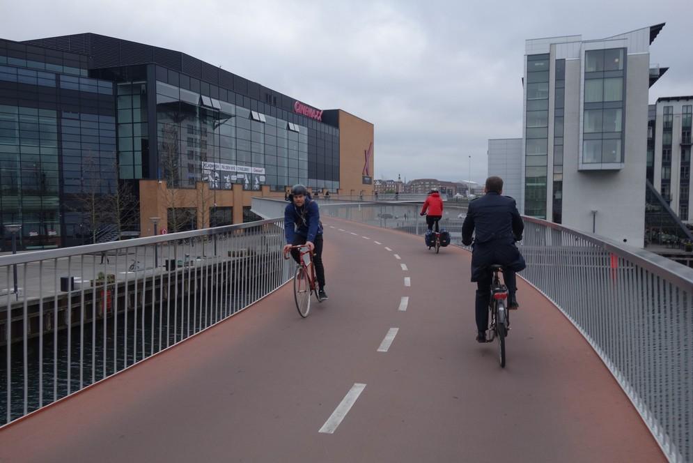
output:
M123 183L137 197L140 181L277 192L304 183L334 195L345 186L339 112L127 40L1 40L0 225L22 225L23 249L100 241L85 197ZM210 224L228 222L219 211Z

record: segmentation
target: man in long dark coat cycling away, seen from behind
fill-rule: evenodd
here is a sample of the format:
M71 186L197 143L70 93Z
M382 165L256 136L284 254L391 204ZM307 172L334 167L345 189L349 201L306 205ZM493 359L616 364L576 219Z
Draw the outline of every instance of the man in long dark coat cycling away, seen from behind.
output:
M492 271L490 266L503 266L503 280L508 287L508 306L517 308L515 272L524 270L524 257L515 241L522 239L524 223L517 211L515 199L503 196L503 179L497 176L486 180L486 194L469 203L462 225L462 243L472 244L472 281L476 282L476 329L478 342L485 342L488 329ZM472 234L476 236L472 240Z

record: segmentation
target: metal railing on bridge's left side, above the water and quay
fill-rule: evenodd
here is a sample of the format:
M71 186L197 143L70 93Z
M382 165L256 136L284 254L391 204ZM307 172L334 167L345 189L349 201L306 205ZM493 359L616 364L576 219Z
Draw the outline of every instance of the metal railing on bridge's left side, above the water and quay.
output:
M263 220L0 257L0 425L274 291L293 275L283 244Z

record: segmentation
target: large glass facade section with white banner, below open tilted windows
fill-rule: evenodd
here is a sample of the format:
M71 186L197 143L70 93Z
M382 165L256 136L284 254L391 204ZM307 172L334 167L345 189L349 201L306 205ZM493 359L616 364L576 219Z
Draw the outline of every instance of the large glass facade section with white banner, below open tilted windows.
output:
M212 190L308 183L308 128L157 82L162 179Z

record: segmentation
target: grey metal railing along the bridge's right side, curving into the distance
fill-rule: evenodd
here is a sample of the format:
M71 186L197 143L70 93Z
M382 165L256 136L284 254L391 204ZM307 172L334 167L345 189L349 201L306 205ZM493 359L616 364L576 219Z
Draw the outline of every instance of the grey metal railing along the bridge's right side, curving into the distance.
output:
M266 200L254 200L254 208L277 212L277 205L260 202ZM442 222L457 245L465 212ZM321 214L413 234L425 230L416 205L325 204ZM524 224L522 278L591 344L669 461L692 462L693 269L545 220L524 217Z

